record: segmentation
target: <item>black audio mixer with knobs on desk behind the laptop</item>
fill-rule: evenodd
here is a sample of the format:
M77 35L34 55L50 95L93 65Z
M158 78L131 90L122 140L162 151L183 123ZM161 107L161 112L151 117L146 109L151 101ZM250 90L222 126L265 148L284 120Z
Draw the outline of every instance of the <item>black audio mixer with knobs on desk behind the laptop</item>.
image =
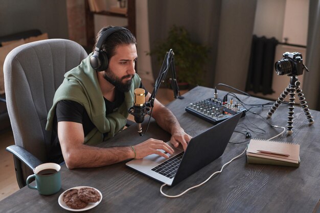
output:
M210 98L191 103L186 107L186 111L212 124L217 124L238 112L243 112L242 116L244 116L246 109L242 105L234 104L232 100L227 102Z

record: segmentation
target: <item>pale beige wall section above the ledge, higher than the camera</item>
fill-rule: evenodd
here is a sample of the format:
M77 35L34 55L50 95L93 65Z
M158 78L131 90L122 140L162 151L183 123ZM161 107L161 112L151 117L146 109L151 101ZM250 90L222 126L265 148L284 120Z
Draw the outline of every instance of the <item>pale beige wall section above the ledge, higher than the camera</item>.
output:
M258 0L254 34L307 45L308 10L309 0Z

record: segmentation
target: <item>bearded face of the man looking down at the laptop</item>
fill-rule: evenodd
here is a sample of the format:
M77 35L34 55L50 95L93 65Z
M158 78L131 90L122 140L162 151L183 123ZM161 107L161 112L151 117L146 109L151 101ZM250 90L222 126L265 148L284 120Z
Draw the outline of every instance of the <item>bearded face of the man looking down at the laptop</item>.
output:
M135 74L134 65L138 58L136 47L135 44L122 44L116 47L115 52L109 60L108 69L104 72L104 79L118 90L127 92Z

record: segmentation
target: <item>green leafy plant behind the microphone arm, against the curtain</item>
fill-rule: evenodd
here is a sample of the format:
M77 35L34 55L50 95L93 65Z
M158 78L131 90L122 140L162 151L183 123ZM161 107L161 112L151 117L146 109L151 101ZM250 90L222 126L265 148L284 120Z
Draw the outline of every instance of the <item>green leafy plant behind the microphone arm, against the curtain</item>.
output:
M194 87L202 83L203 66L208 60L209 47L191 40L184 27L172 26L168 37L156 43L149 55L154 55L162 64L166 52L174 52L175 69L180 89L182 85ZM170 78L171 74L167 75ZM187 88L188 89L188 88Z

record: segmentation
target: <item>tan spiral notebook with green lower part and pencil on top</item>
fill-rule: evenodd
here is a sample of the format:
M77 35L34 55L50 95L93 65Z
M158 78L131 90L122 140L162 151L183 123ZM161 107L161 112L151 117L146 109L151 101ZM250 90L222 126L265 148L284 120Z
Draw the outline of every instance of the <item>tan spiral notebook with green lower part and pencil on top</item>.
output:
M248 163L299 167L300 145L254 138L250 140L246 155Z

